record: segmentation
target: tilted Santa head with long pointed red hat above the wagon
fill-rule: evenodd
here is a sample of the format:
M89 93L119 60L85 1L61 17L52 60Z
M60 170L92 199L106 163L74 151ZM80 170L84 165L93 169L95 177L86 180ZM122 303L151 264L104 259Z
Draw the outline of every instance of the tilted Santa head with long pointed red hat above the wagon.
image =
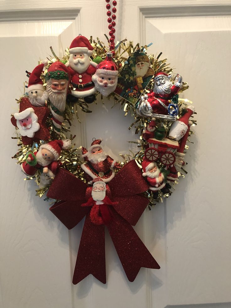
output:
M195 112L194 106L188 106L186 113L176 122L173 122L169 130L169 138L179 141L186 134L189 126L189 118Z

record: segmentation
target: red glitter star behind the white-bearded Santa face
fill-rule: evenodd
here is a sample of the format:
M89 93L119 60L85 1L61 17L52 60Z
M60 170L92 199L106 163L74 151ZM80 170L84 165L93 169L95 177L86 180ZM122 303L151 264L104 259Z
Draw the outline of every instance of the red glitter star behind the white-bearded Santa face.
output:
M27 97L23 97L20 100L19 112L26 110L27 108L33 108L36 116L38 117L38 123L40 125L40 129L35 132L35 136L33 138L22 136L22 143L24 145L32 144L33 142L38 142L40 140L47 141L50 139L49 129L46 127L46 119L50 114L50 111L47 107L35 107L31 105L30 100ZM17 120L14 116L11 118L11 123L13 126L17 127Z

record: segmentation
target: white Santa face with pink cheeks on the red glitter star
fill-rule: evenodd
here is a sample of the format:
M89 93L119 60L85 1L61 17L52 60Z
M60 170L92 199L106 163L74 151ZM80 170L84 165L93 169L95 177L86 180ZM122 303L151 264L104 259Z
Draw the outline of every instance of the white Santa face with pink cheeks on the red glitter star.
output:
M14 117L17 120L16 124L22 136L33 138L35 132L39 131L38 116L33 108L27 108L22 112L15 113Z

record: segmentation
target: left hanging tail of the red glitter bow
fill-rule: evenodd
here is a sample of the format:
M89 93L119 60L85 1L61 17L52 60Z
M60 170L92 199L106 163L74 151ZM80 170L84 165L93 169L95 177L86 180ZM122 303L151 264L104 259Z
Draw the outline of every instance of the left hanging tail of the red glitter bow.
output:
M106 283L104 225L93 224L90 215L87 214L79 244L73 284L78 284L89 274L103 284Z

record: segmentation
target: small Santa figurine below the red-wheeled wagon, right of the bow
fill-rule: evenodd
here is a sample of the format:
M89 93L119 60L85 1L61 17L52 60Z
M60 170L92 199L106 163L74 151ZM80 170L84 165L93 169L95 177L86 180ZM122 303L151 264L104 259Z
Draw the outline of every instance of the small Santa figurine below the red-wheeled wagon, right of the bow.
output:
M149 189L153 192L154 197L158 197L158 190L163 193L169 193L169 189L165 187L168 171L161 172L156 162L143 160L142 162L143 176L147 176L147 181L151 185Z

